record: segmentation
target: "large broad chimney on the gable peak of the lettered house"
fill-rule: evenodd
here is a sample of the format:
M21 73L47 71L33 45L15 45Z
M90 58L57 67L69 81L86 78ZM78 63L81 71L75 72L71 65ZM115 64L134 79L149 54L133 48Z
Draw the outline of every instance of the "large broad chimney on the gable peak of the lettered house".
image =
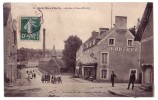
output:
M116 16L115 17L115 26L119 29L127 28L127 17L126 16Z

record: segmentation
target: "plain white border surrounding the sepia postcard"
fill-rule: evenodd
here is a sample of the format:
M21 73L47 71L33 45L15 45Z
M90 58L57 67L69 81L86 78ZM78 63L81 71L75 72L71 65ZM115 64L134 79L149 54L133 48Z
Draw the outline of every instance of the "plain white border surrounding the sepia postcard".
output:
M158 39L158 34L156 34L156 33L158 33L158 9L157 9L157 7L158 7L158 0L76 0L77 2L154 2L154 60L155 60L155 62L154 62L154 76L157 76L158 75L158 73L157 73L157 70L158 70L158 67L156 67L156 66L158 66L158 62L156 62L156 60L158 59L158 45L157 45L157 39ZM1 46L2 46L2 49L1 49L1 52L0 52L0 57L1 57L1 60L0 60L0 64L1 64L1 72L0 72L0 80L1 80L1 82L0 82L0 86L1 86L1 89L0 89L0 99L1 100L21 100L21 99L24 99L24 100L28 100L28 99L31 99L31 100L52 100L52 99L56 99L56 100L74 100L74 99L76 99L76 100L80 100L80 99L91 99L91 100L96 100L96 99L98 99L98 100L105 100L105 99L112 99L112 100L114 100L114 99L117 99L117 100L127 100L127 99L130 99L130 100L135 100L135 99L140 99L140 100L142 100L142 99L150 99L150 100L158 100L158 85L157 85L157 83L158 83L158 79L157 78L155 78L154 77L154 83L155 83L155 90L154 90L154 97L150 97L150 98L129 98L129 97L119 97L119 98L117 98L117 97L115 97L115 98L112 98L112 97L106 97L106 98L104 98L104 97L102 97L102 98L98 98L98 97L95 97L95 98L93 98L93 97L84 97L84 98L77 98L77 97L67 97L67 98L61 98L61 97L56 97L56 98L41 98L41 97L36 97L36 98L33 98L33 97L30 97L30 98L26 98L26 97L20 97L20 98L17 98L17 97L14 97L14 98L4 98L4 84L3 84L3 66L4 66L4 51L3 51L3 47L4 47L4 40L3 40L3 9L2 9L2 7L3 7L3 2L74 2L74 0L1 0L0 1L0 6L1 6L1 9L0 9L0 13L1 13L1 15L2 16L0 16L1 18L0 18L0 20L1 20L1 41L0 41L0 44L1 44Z

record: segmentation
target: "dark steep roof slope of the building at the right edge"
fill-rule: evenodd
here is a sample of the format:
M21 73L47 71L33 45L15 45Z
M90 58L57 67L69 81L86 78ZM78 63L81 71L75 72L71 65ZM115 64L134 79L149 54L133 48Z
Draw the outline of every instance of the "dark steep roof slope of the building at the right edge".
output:
M138 27L138 30L135 36L135 41L141 41L141 38L143 36L144 30L146 28L146 25L148 23L152 10L153 10L153 3L147 3L143 17L141 19L140 25Z

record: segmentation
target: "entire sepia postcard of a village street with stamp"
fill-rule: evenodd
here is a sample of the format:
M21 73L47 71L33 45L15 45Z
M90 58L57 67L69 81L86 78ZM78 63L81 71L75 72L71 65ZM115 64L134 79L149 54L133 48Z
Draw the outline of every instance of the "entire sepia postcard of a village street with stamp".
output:
M4 97L153 97L152 2L4 3Z

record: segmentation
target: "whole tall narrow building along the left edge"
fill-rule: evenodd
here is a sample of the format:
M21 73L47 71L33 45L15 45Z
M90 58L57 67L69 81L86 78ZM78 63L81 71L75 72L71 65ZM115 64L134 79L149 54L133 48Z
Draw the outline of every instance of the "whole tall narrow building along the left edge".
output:
M4 79L6 83L17 78L17 27L12 19L11 4L3 5L4 27Z

